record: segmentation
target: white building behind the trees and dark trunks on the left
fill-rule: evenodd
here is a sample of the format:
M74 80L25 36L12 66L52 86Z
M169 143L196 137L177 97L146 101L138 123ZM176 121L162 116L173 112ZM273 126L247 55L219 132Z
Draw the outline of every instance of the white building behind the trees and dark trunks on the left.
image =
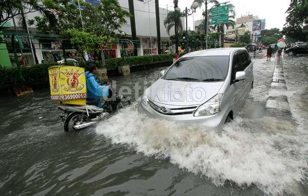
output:
M83 0L81 0L83 1ZM91 3L92 5L98 4L96 0L84 0L85 2ZM128 0L119 0L120 6L122 9L129 11L128 7ZM134 4L134 18L136 23L136 32L137 32L137 40L140 41L140 45L137 46L138 48L138 56L147 55L147 54L158 54L158 44L157 44L157 27L156 27L156 12L155 12L155 1L151 1L149 3L145 3L143 1L135 0L133 1ZM167 13L171 10L167 10L165 8L160 8L160 33L161 33L161 46L164 49L165 45L163 44L166 41L169 41L169 34L164 26L164 19L167 16ZM26 20L34 19L35 16L40 16L40 12L32 12L27 13ZM26 30L22 28L21 23L19 22L21 16L14 17L14 21L17 27L18 32L25 32ZM11 27L7 28L7 30L13 32L13 20L10 20L8 24ZM184 26L184 18L182 19L182 24ZM35 25L28 26L30 33L37 32ZM126 34L127 39L131 39L131 26L130 26L130 18L127 17L127 23L122 25L122 30ZM170 35L174 34L175 30L172 28L170 30ZM44 46L43 43L40 43L39 40L33 39L32 42L34 43L35 47L35 54L39 63L42 60L46 60L49 58L53 58L54 56L62 56L63 50L61 49L60 42L52 42L50 47ZM166 49L166 48L165 48ZM69 51L70 49L68 49ZM123 52L124 51L124 52ZM121 54L125 54L127 56L132 55L133 47L131 44L124 44L119 42L113 44L111 50L105 52L107 56L112 57L121 57ZM23 53L24 57L26 58L26 64L34 64L33 55L31 54L30 50L27 50ZM10 57L13 57L13 53L9 53Z

